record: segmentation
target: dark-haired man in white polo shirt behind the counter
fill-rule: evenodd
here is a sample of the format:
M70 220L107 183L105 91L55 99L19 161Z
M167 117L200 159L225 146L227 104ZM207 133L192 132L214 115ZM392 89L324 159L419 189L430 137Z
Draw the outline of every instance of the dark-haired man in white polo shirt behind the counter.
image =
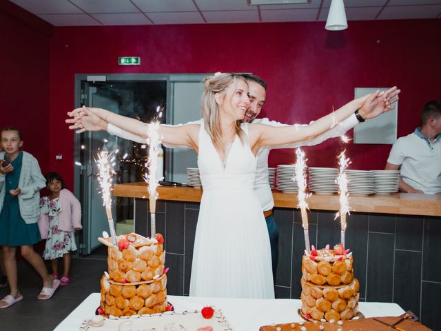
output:
M400 191L441 194L441 101L421 110L421 126L392 146L386 170L401 170Z

